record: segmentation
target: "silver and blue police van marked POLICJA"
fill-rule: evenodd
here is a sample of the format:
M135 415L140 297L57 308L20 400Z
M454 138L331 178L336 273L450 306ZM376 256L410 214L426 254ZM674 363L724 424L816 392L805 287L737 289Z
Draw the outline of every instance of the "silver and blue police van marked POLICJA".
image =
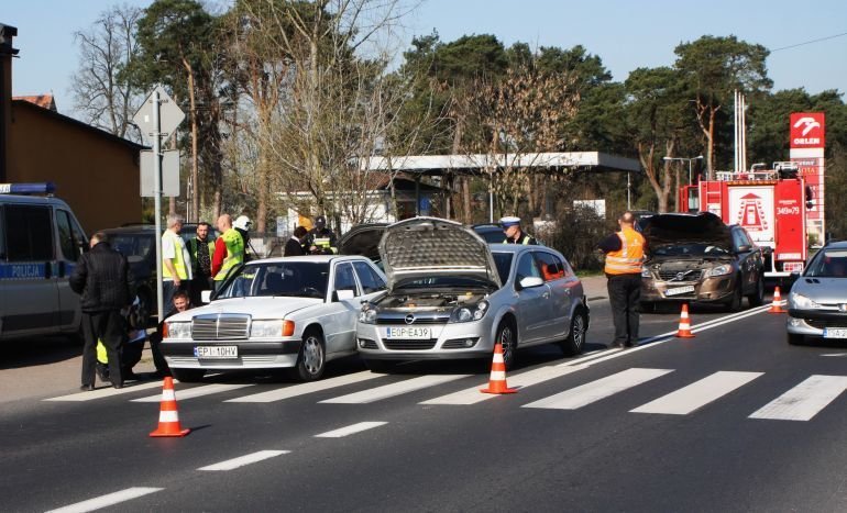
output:
M74 212L52 183L0 183L0 341L80 330L68 278L88 250Z

